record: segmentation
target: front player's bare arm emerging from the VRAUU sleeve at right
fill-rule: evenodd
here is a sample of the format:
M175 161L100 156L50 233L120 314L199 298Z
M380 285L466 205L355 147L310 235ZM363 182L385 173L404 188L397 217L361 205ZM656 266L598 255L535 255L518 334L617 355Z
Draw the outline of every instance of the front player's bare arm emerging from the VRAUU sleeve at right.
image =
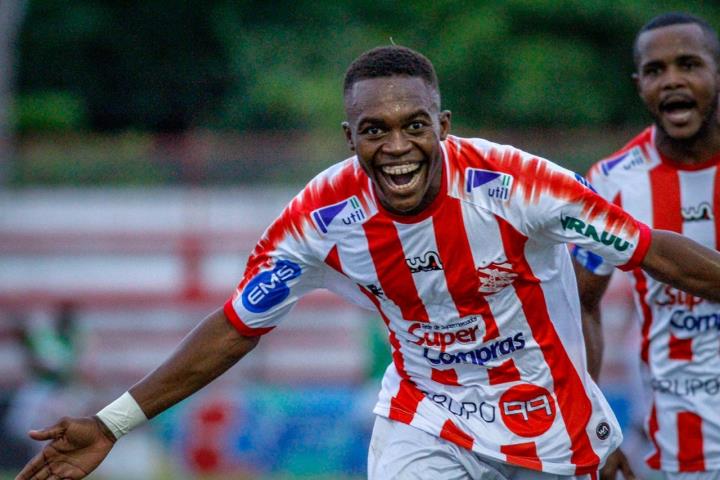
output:
M655 280L720 302L720 253L687 237L652 230L650 248L640 266Z

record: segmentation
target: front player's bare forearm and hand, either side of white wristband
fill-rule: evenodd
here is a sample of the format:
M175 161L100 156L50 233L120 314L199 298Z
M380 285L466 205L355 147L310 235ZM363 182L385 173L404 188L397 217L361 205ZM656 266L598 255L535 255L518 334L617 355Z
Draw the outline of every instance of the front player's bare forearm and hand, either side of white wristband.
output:
M203 320L162 365L130 389L147 418L201 389L250 352L259 337L244 337L222 309ZM62 418L30 432L35 440L51 440L25 465L16 480L77 480L95 470L110 453L115 436L97 417ZM54 475L54 476L53 476Z

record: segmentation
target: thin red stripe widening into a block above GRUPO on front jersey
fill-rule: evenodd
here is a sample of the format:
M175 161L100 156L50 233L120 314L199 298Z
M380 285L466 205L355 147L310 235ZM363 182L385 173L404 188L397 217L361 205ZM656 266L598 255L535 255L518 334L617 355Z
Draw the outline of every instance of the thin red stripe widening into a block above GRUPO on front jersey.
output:
M385 312L382 311L380 301L375 298L375 295L367 291L366 288L360 287L360 291L363 292L365 296L367 296L375 305L375 308L377 308L378 313L380 313L380 316L385 322L385 326L389 332L388 336L390 346L392 347L393 363L395 364L395 369L402 379L400 381L400 389L398 390L397 395L390 400L389 416L392 420L409 424L415 417L417 407L425 396L420 390L418 390L415 382L410 379L410 375L408 375L407 370L405 370L405 359L400 352L400 341L392 328L390 328L390 319L387 315L385 315Z

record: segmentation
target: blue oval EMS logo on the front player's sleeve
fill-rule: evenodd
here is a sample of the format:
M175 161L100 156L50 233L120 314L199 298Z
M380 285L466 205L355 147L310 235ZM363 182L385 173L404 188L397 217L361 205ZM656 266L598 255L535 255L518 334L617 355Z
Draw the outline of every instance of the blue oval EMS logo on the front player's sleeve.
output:
M300 266L290 260L278 260L272 270L257 274L242 293L243 306L249 312L267 312L290 295L287 282L302 273Z

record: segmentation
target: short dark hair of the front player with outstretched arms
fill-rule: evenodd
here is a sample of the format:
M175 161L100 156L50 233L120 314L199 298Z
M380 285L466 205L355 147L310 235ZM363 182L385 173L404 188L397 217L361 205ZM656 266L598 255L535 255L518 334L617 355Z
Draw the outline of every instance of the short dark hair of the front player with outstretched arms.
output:
M395 75L422 78L439 93L435 68L425 55L407 47L387 45L368 50L350 64L345 72L343 94L359 80Z

